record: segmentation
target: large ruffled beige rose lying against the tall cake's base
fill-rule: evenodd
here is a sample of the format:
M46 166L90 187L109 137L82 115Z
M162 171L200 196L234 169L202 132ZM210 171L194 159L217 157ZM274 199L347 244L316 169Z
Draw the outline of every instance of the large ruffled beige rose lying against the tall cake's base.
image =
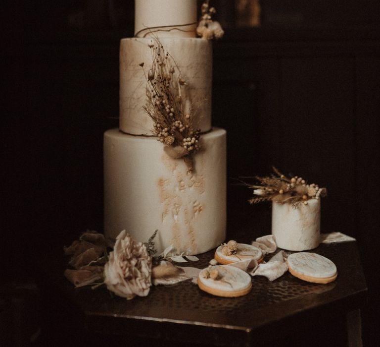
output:
M123 230L104 266L104 283L108 290L128 300L136 295L146 296L151 286L151 268L152 258L145 245Z

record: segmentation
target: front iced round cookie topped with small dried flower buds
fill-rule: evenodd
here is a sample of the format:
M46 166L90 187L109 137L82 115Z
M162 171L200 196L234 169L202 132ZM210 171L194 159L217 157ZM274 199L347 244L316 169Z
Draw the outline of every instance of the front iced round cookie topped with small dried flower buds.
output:
M249 293L252 281L243 270L234 266L216 265L199 273L198 287L212 295L237 297Z

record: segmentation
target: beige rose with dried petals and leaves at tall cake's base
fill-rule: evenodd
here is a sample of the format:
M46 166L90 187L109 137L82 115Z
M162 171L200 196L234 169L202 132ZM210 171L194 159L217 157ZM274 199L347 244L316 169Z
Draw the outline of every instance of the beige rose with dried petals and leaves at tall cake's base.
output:
M136 242L125 230L115 242L96 231L87 231L69 247L64 247L71 256L65 277L76 288L105 285L110 293L130 300L135 296L146 296L152 284L175 284L189 280L192 272L171 262L198 261L196 256L184 251L178 254L173 245L155 256L154 238L157 230L146 242Z

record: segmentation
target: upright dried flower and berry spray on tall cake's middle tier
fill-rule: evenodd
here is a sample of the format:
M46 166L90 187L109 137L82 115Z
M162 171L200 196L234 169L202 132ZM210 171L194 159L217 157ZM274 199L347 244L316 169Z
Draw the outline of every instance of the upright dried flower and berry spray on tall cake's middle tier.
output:
M147 73L144 71L147 102L143 109L153 120L152 133L165 145L165 152L173 159L183 158L188 172L192 172L192 156L200 149L200 129L192 127L193 105L189 113L185 112L182 88L187 83L177 63L157 38L152 39L148 46L152 64ZM144 63L140 66L143 68Z

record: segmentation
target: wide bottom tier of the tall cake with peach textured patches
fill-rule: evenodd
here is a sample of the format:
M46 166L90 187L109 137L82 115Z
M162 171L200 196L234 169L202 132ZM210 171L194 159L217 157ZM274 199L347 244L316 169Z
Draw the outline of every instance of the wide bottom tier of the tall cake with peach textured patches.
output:
M111 129L104 133L104 232L126 230L147 241L155 230L159 252L206 252L226 236L226 131L200 138L194 171L172 159L155 137Z

